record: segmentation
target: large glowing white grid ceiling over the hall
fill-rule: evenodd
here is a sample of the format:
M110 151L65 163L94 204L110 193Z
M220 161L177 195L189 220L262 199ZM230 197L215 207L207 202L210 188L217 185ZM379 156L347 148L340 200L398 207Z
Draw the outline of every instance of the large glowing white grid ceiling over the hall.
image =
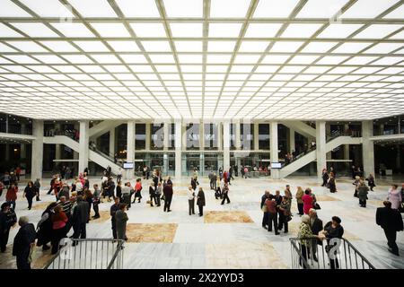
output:
M404 109L404 1L0 0L0 111L370 119Z

